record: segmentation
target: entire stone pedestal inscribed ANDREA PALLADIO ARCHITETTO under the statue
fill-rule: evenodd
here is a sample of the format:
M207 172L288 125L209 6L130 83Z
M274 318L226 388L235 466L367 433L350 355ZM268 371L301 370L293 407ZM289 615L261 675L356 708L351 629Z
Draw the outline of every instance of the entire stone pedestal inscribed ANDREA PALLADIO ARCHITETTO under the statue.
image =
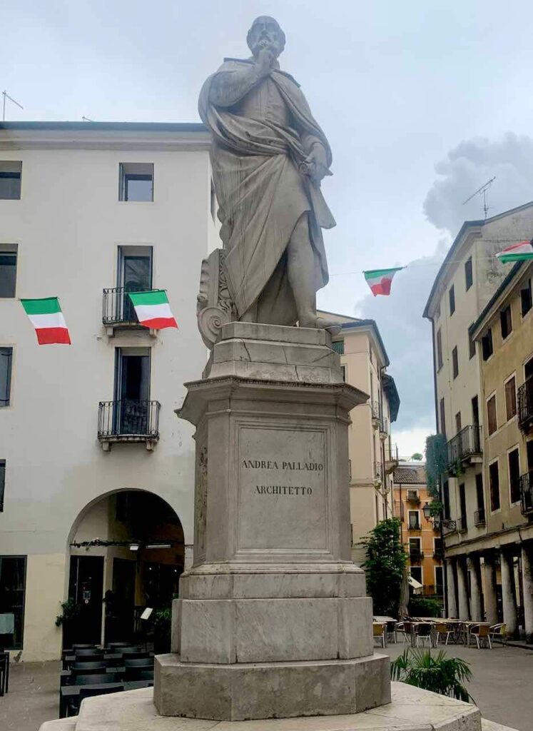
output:
M196 426L194 564L156 658L162 715L355 713L390 700L350 560L349 411L325 330L222 327L179 416Z

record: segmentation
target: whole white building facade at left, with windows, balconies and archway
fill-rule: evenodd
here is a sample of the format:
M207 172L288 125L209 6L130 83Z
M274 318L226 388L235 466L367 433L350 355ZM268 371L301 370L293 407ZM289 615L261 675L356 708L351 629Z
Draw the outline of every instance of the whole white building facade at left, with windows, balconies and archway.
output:
M174 410L206 360L208 145L200 124L0 125L0 645L23 660L59 656L67 599L78 641L116 636L172 598L192 550ZM128 289L166 289L179 329L140 327ZM39 346L18 301L50 296L71 346Z

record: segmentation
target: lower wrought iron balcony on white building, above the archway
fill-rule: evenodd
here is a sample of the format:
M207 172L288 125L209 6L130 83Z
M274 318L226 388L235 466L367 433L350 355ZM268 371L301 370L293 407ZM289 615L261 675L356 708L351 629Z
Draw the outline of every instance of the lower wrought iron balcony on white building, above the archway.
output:
M115 442L144 442L152 450L159 440L159 401L100 401L98 439L107 452Z

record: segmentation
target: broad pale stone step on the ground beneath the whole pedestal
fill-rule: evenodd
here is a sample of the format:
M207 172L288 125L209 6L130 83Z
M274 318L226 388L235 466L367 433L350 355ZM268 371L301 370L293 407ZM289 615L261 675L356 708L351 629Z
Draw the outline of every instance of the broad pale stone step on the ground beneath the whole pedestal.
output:
M475 705L392 683L387 705L357 715L268 721L209 721L158 716L152 689L88 698L80 716L47 721L40 731L515 731L481 719Z

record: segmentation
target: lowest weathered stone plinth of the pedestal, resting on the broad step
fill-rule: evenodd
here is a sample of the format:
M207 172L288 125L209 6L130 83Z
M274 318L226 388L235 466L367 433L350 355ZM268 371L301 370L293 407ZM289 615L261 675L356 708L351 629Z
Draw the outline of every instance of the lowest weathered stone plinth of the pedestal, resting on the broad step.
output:
M390 702L388 656L314 662L193 664L159 655L154 703L163 716L243 721L360 713Z

